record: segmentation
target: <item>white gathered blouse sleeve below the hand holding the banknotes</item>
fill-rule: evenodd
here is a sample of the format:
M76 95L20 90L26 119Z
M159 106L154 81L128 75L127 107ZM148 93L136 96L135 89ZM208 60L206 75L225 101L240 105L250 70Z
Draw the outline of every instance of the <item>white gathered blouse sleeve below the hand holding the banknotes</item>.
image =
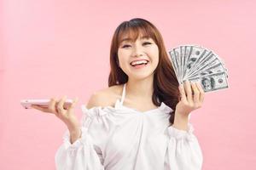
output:
M194 127L191 123L188 127L188 131L168 127L170 139L167 144L166 169L171 167L172 170L201 170L201 147L193 133Z

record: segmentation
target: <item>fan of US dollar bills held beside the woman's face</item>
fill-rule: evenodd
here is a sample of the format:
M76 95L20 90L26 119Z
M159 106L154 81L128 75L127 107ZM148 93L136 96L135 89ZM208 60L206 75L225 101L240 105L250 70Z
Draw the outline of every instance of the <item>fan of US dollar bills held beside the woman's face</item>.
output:
M201 82L205 92L229 88L224 61L212 50L197 45L182 45L169 51L177 81Z

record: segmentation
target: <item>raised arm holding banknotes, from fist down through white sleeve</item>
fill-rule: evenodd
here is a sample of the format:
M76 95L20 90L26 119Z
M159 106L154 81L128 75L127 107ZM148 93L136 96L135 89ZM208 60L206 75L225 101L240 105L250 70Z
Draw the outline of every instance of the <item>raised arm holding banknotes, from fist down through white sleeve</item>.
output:
M184 86L184 87L183 87ZM192 88L191 88L192 87ZM176 105L174 122L168 127L166 166L172 170L200 170L201 147L189 123L189 113L201 107L204 91L199 83L187 81L179 87L181 100ZM192 92L193 91L193 92Z

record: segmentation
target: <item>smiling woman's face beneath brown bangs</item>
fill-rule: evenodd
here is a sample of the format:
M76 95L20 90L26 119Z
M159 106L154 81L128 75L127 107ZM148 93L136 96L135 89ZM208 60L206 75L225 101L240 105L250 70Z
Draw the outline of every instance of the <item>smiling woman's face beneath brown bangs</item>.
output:
M154 76L154 70L159 62L159 48L152 38L139 35L135 42L123 37L118 49L119 67L129 78L142 79ZM134 61L147 61L145 65L137 65Z

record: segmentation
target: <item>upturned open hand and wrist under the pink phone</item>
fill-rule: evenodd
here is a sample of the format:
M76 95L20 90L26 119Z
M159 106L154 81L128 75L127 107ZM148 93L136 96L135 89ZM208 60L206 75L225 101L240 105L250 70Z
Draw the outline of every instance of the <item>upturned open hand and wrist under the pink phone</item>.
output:
M67 125L67 128L70 132L75 132L79 129L79 120L74 114L74 106L78 102L78 98L73 100L73 103L68 107L64 108L65 100L67 96L62 97L57 100L51 98L48 107L43 107L40 105L32 105L32 108L46 113L55 114L62 122Z

